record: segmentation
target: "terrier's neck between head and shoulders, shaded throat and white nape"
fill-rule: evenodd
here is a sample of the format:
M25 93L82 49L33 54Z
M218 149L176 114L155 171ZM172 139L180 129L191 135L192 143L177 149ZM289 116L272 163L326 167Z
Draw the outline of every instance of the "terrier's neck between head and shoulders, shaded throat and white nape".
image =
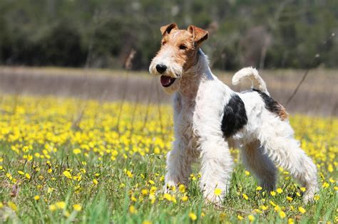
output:
M185 100L195 100L201 82L212 79L208 56L198 49L195 65L185 70L180 80L180 95Z

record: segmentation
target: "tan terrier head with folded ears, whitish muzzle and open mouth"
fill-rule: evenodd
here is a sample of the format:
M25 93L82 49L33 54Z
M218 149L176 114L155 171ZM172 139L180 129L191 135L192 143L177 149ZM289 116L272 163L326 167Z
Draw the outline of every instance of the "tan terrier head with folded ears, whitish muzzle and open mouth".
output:
M198 48L208 39L208 31L196 26L180 30L176 23L160 28L160 50L150 63L149 71L161 75L163 90L173 93L180 87L180 79L186 70L198 62Z

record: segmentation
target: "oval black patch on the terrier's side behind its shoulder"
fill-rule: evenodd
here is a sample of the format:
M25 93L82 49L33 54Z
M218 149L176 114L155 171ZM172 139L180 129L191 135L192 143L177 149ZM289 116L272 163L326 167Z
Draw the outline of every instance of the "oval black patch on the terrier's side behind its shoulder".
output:
M242 99L235 94L232 95L224 107L221 129L225 137L231 137L247 124L247 112Z

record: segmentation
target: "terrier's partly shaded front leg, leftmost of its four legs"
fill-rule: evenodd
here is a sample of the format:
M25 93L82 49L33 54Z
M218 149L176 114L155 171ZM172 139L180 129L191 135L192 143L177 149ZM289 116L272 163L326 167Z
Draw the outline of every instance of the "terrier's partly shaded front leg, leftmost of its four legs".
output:
M186 144L180 138L173 143L173 150L167 154L167 173L165 174L164 191L170 186L178 186L178 183L187 184L191 174L191 162L193 157L188 153Z

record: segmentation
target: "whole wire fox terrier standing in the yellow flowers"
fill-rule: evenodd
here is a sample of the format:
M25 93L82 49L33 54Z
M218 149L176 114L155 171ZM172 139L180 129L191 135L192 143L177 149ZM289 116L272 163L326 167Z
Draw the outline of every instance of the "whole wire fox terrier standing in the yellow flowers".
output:
M252 90L234 92L212 74L200 49L208 31L196 26L180 30L175 23L160 28L161 48L150 73L161 75L163 90L174 94L173 149L167 156L165 191L188 183L191 164L200 157L200 188L207 201L221 203L230 184L230 147L267 191L275 188L277 169L290 171L307 190L304 201L318 191L317 169L299 147L285 108L270 97L255 68L235 73L232 84L252 81ZM222 193L215 196L215 188Z

